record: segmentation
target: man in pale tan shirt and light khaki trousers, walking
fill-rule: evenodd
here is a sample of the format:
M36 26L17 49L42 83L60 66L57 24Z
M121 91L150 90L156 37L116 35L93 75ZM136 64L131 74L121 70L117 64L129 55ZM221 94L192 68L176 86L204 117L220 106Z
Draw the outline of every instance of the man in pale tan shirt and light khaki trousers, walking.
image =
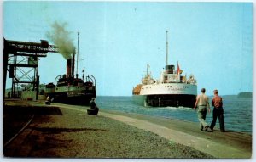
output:
M209 98L205 94L206 89L202 88L201 89L201 94L196 97L195 101L195 106L194 110L196 107L198 107L197 115L198 115L198 120L200 122L200 128L201 131L205 128L205 131L209 128L209 125L207 124L206 117L207 117L207 108L209 113L211 112L210 105L209 105Z

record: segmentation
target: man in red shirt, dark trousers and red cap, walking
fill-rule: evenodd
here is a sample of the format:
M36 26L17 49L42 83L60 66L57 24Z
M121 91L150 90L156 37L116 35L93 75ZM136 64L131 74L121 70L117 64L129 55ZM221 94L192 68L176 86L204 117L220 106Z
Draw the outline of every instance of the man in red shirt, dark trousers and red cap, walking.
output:
M224 110L223 110L222 98L218 96L218 90L214 90L213 93L214 93L214 97L212 98L212 106L214 107L214 109L212 113L212 124L210 128L213 131L213 128L216 124L216 120L218 117L220 131L224 132L225 126L224 126Z

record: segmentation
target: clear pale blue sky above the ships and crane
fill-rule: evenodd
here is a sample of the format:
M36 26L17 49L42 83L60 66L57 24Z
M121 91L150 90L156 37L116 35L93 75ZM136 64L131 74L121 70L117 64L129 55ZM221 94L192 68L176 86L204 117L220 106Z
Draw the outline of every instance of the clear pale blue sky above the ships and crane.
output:
M54 23L65 24L77 48L79 76L96 78L97 95L131 96L147 64L159 79L169 64L193 74L212 95L253 92L253 3L9 2L3 3L7 40L49 40ZM177 67L176 67L177 68ZM40 58L40 84L66 73L60 53ZM10 87L8 80L7 87Z

